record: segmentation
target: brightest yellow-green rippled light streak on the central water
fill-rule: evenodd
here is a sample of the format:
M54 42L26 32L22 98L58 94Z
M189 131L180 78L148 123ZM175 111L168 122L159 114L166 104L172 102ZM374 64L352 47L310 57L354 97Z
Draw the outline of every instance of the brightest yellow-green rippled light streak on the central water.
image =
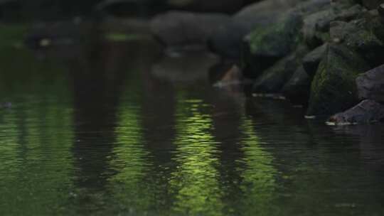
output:
M176 171L169 180L175 195L176 215L221 215L223 203L218 182L218 152L209 114L199 109L201 100L185 100L179 95L176 117Z

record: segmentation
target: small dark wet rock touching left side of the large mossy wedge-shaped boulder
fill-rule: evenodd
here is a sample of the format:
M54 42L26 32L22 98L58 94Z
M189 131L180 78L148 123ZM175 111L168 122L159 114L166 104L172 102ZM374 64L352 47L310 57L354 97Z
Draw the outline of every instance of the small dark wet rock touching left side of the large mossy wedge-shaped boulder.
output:
M306 105L309 99L310 88L311 77L306 74L303 67L299 67L282 88L282 94L292 104Z

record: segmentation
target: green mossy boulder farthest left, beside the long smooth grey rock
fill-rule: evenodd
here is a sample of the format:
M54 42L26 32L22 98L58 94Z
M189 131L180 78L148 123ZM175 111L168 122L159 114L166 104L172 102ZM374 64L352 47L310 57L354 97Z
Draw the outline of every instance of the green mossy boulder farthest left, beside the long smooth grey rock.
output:
M291 53L301 41L302 24L299 13L289 13L280 22L252 31L245 38L245 74L252 78L258 77L260 72Z

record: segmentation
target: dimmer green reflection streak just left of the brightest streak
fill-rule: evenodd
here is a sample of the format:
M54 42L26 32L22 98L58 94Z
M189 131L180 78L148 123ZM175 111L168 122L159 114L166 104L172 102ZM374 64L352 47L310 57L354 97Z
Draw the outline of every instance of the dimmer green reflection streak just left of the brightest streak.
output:
M133 105L122 102L117 114L117 140L110 164L118 173L109 179L109 183L112 198L118 205L116 210L135 215L148 210L154 199L144 183L150 164L149 153L144 149L139 107L130 102Z

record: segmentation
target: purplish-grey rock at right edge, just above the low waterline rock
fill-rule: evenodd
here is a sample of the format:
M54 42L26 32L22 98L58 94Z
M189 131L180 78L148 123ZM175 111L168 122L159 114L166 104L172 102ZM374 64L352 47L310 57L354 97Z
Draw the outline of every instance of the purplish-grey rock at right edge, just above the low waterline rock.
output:
M384 102L384 65L359 75L356 79L358 97Z

